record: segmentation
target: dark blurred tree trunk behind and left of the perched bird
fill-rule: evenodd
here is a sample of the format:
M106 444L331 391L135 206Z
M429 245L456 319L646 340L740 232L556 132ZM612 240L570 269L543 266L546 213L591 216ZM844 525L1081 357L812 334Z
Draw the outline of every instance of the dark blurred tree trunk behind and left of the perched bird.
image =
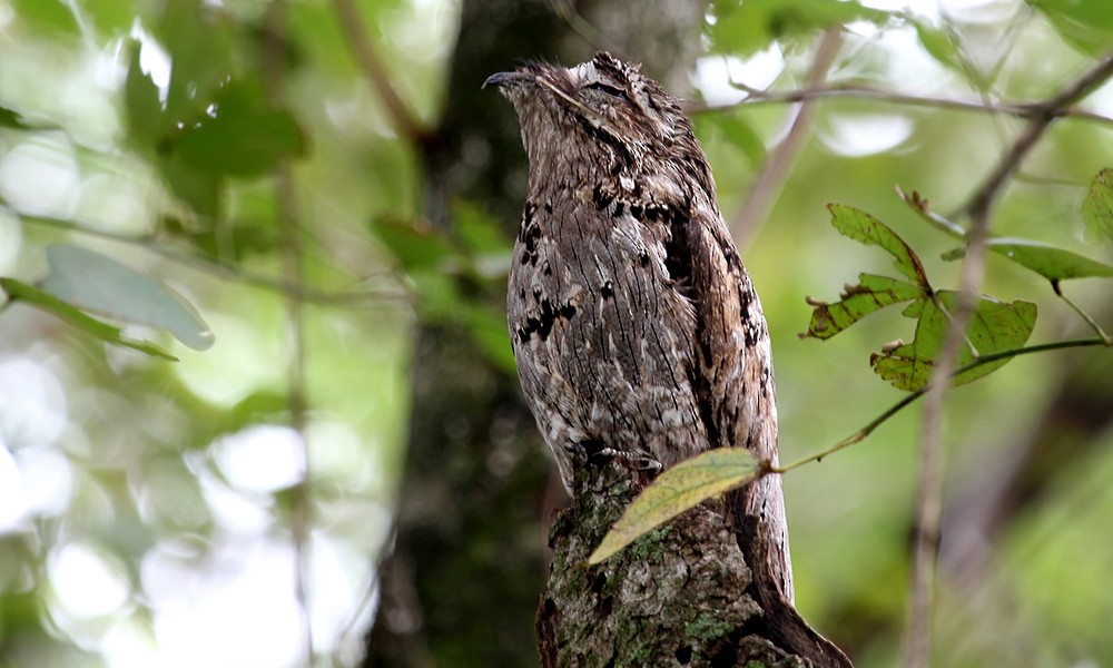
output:
M542 1L463 3L442 121L423 156L427 215L450 234L459 198L516 236L525 183L518 125L480 86L523 58L555 52L562 29ZM475 289L473 298L505 299ZM413 383L395 543L380 568L365 665L535 666L540 520L551 483L518 379L493 367L466 332L423 324Z

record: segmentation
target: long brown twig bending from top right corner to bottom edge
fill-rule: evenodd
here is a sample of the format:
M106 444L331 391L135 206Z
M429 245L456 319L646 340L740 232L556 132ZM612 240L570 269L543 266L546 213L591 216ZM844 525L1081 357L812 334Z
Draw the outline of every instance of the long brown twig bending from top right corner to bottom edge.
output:
M966 323L974 311L977 286L982 283L986 242L989 235L989 213L1021 161L1040 140L1052 121L1061 117L1060 110L1083 98L1111 76L1113 76L1113 55L1107 55L1062 92L1032 107L1027 126L1006 151L982 188L976 191L969 204L963 207L963 210L969 215L971 227L966 235L967 249L963 262L958 305L936 358L935 371L924 400L920 468L916 492L912 612L904 660L908 668L926 668L929 665L932 596L943 509L940 464L943 404L949 386L952 370L955 367L962 342L965 340Z

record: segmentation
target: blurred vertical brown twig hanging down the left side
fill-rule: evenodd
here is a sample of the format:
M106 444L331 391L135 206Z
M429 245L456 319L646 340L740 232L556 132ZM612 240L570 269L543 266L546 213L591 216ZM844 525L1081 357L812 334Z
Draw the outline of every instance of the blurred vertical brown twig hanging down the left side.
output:
M279 107L283 98L284 51L286 49L286 0L272 0L266 13L263 52L264 81L267 100ZM304 282L302 263L301 226L297 223L297 200L289 165L279 160L275 167L275 198L278 203L278 224L285 245L284 265L290 282L301 288ZM298 289L301 292L301 289ZM295 596L302 615L305 635L306 668L314 665L313 623L309 611L309 528L313 524L313 505L309 499L312 475L309 470L309 442L306 433L307 400L305 393L305 304L296 295L286 299L287 321L290 330L293 354L286 369L289 424L302 441L302 481L292 490L290 533L296 561Z

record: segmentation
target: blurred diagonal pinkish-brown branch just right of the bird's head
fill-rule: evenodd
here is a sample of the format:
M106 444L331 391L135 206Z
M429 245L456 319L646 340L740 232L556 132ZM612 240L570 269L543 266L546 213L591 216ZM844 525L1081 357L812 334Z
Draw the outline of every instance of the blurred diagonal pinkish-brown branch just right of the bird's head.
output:
M841 26L824 32L819 47L816 49L811 71L808 73L808 90L819 88L824 79L827 78L827 72L830 70L841 43ZM781 140L776 150L769 155L761 171L754 179L746 203L730 225L730 232L736 242L760 227L769 215L769 210L785 187L792 161L804 148L805 140L811 131L815 115L816 107L810 100L800 102L788 134L785 135L785 139Z

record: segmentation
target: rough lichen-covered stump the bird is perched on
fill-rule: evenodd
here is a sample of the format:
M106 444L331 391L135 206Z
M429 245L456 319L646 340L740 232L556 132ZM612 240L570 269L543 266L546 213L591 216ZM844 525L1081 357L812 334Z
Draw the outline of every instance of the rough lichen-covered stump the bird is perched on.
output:
M580 469L550 532L538 607L542 666L807 666L758 636L762 611L726 503L706 502L594 567L588 556L642 482L621 461Z

